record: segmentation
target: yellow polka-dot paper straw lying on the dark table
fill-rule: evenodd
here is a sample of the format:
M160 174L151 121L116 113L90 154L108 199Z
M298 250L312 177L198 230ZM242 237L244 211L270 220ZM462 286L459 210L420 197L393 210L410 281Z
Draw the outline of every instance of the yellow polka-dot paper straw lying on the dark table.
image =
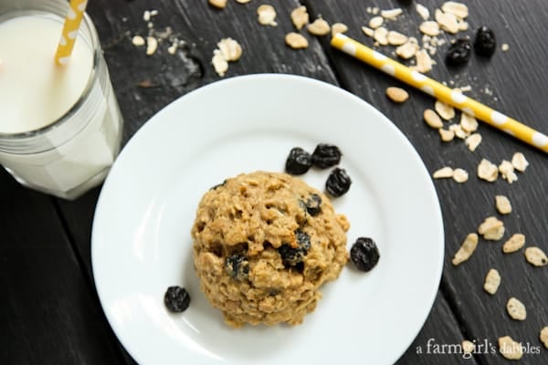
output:
M332 37L331 44L332 47L340 49L344 53L356 57L436 99L444 101L479 120L483 120L542 151L548 152L548 136L538 130L533 130L518 120L511 119L497 110L490 109L487 105L470 99L456 89L450 89L432 78L427 78L422 73L413 71L348 36L337 34Z

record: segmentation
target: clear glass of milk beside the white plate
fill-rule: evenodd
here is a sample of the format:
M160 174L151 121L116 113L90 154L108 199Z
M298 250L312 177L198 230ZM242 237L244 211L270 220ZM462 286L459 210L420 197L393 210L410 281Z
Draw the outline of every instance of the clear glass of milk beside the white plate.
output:
M75 199L109 172L122 118L90 17L56 65L67 12L64 0L0 0L0 164L29 188Z

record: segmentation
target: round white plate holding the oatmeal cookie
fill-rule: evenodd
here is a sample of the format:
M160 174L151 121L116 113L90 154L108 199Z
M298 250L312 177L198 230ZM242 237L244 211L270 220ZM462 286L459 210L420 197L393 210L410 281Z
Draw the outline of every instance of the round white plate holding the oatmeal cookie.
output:
M283 171L294 146L338 145L353 179L333 200L352 224L348 247L371 236L378 266L346 266L322 287L297 327L228 328L200 292L190 229L205 191L226 177ZM304 179L323 188L328 171ZM143 365L395 362L436 297L443 224L429 174L406 137L362 99L288 75L229 78L160 111L114 163L100 193L92 264L101 305ZM168 286L192 297L183 314L163 307ZM346 362L351 361L353 362ZM358 362L356 362L358 361Z

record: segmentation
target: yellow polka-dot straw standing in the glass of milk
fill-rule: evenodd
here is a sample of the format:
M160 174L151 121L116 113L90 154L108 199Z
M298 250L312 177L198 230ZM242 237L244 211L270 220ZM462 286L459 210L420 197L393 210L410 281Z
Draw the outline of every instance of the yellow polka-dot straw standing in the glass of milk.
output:
M65 65L68 62L87 5L88 0L70 0L67 17L65 17L65 24L63 26L63 33L61 34L58 49L55 53L55 62L58 65Z

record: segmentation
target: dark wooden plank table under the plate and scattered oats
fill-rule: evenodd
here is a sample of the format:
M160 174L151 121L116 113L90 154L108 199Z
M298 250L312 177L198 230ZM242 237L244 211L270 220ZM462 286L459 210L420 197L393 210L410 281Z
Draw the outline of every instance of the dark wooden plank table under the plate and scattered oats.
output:
M548 266L531 266L522 252L503 255L501 245L510 235L522 233L526 246L537 245L548 252L548 156L486 124L479 126L483 141L473 153L462 141L441 142L437 131L422 121L423 110L433 107L433 99L332 49L328 36L304 32L310 41L307 49L293 50L284 45L285 34L293 30L290 11L298 5L306 5L312 18L321 15L330 23L346 24L347 35L369 46L373 45L372 39L361 31L361 26L366 26L373 16L367 7L402 6L404 16L388 26L420 40L415 2L268 3L278 11L278 26L258 24L256 9L263 4L258 0L247 5L228 0L224 10L207 5L205 0L91 0L88 12L99 30L125 119L124 143L165 105L220 78L210 61L216 42L227 36L237 39L244 51L241 59L230 64L226 78L250 73L290 73L318 78L353 92L385 113L405 133L430 172L446 165L469 172L467 183L435 181L446 232L443 277L424 328L398 364L505 363L507 360L490 349L479 349L480 353L472 359L463 360L461 354L448 353L448 345L469 339L496 346L497 339L506 335L523 345L529 344L522 363L547 364L548 349L543 347L539 332L548 326ZM432 14L442 3L421 2ZM442 45L433 56L437 65L429 75L449 86L469 85L470 97L548 132L548 2L466 3L469 31L459 36L473 37L479 26L490 26L499 42L495 55L490 59L473 55L467 66L448 68L443 60L448 45ZM158 15L153 16L156 32L169 26L174 35L184 40L185 45L174 55L167 50L171 45L167 38L152 56L146 56L144 48L132 45L132 36L147 35L149 28L142 16L151 9L158 10ZM506 52L501 51L503 43L509 45ZM378 49L391 55L394 47ZM389 86L404 87L410 99L401 105L391 102L385 96ZM499 178L487 183L478 179L476 166L482 158L498 164L511 159L516 151L522 151L530 162L517 182L509 184ZM403 179L402 189L405 188ZM104 317L93 284L90 228L99 194L100 188L96 188L75 201L63 201L29 191L7 172L0 172L0 364L133 363ZM511 199L511 214L496 213L496 194ZM489 215L503 220L506 233L502 240L493 243L480 239L468 262L452 266L451 258L462 240ZM491 267L502 276L501 287L494 296L482 288ZM516 321L508 316L505 307L509 297L518 297L525 304L526 320ZM390 325L397 328L397 324ZM366 361L364 353L361 363Z

